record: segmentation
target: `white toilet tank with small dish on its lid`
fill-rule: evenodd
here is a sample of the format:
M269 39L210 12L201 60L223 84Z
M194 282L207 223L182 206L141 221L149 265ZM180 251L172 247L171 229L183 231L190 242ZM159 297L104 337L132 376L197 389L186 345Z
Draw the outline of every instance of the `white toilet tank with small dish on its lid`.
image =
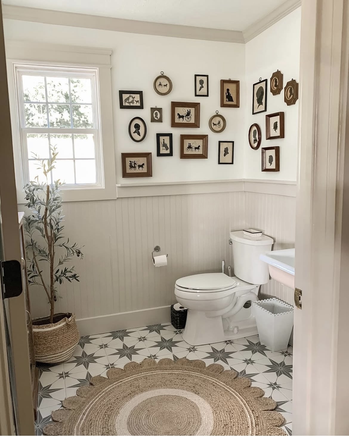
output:
M234 275L253 285L263 285L269 280L267 263L260 260L260 254L271 251L274 240L262 235L260 238L246 238L243 231L230 232L233 244Z

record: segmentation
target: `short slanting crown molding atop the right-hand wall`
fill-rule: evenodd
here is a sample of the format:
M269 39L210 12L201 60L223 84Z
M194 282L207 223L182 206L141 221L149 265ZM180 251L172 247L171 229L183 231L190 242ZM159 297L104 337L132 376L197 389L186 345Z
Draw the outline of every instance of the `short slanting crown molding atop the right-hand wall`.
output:
M286 0L279 7L272 10L268 15L255 21L243 31L245 43L251 41L251 39L267 30L273 24L277 23L277 21L286 17L286 15L290 14L300 6L301 0Z

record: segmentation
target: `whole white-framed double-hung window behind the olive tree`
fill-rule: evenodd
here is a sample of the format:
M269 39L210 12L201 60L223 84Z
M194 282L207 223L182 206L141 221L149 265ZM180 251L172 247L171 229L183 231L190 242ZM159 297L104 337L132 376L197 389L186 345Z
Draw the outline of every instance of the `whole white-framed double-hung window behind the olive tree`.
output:
M97 68L16 65L22 183L46 181L35 157L58 152L48 183L103 186Z

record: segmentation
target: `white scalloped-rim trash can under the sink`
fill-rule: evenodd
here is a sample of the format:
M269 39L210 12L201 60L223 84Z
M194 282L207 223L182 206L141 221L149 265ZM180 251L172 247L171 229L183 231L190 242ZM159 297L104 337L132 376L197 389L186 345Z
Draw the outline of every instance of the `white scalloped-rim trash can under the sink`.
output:
M271 351L288 347L293 327L293 306L278 298L252 302L259 340Z

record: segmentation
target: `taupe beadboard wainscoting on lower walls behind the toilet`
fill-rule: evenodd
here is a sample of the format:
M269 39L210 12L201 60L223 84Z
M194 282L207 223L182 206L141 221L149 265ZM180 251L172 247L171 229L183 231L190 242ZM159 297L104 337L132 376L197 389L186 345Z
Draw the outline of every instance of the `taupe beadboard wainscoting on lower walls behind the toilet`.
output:
M253 226L274 238L274 249L294 246L294 209L293 197L243 191L65 202L65 235L85 245L85 256L74 261L80 282L60 286L56 311L74 312L82 334L127 328L130 319L133 327L163 322L176 279L219 272L223 259L233 266L230 231ZM155 245L168 266L153 266ZM262 293L291 302L273 280ZM42 288L30 294L33 317L46 316Z

